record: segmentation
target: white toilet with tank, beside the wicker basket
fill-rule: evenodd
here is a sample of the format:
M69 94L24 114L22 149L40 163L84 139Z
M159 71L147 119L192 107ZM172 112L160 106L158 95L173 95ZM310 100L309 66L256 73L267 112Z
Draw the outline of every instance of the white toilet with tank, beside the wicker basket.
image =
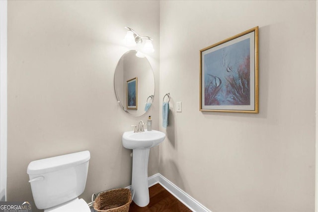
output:
M44 212L90 212L79 199L89 159L89 151L80 151L30 162L27 173L35 206Z

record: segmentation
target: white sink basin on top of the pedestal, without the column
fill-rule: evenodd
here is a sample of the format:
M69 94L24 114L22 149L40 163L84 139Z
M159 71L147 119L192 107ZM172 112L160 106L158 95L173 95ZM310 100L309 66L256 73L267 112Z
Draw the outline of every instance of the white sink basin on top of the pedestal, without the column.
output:
M134 133L134 131L125 132L123 134L123 146L128 149L135 148L151 148L157 146L165 138L165 134L152 130L140 133Z

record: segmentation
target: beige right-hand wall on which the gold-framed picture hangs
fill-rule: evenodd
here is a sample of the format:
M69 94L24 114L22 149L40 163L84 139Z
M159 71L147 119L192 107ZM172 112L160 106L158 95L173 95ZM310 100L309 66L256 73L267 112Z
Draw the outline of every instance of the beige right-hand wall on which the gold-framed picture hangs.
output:
M159 172L213 212L315 210L315 9L160 2L160 99L173 109ZM200 112L199 50L257 25L259 114Z

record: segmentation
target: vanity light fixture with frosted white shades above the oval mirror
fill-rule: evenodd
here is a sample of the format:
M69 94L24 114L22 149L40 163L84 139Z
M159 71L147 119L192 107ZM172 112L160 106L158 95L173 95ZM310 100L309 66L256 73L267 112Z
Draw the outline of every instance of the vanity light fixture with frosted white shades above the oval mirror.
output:
M145 53L153 53L155 52L154 46L153 46L153 39L149 36L140 36L135 32L132 28L129 28L125 26L126 29L128 29L127 34L125 36L125 43L127 46L136 46L137 44L143 43L143 38L146 38L146 43L143 49L143 52ZM138 57L138 56L137 56Z

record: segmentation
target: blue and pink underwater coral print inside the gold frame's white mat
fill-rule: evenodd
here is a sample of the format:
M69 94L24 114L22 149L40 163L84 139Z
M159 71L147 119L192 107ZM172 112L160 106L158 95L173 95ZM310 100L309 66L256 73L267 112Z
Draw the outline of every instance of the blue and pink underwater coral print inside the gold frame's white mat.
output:
M250 105L250 39L204 56L204 104Z

